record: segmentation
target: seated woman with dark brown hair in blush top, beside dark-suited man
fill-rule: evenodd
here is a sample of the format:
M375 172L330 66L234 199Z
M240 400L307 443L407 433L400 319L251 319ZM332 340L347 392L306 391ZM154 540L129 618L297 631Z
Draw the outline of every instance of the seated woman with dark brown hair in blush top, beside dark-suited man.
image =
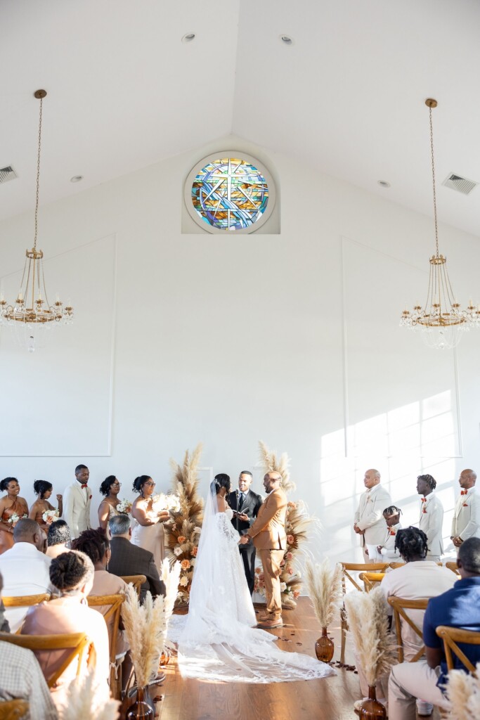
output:
M98 530L83 530L81 534L73 540L72 549L84 552L94 563L94 585L89 595L118 595L124 593L127 583L117 575L107 572L107 564L110 559L110 543L105 532L99 528ZM94 610L105 615L109 609L108 605L99 605ZM112 639L113 616L107 621L109 631L109 639ZM128 649L124 640L123 633L120 630L117 636L117 654L122 654Z

